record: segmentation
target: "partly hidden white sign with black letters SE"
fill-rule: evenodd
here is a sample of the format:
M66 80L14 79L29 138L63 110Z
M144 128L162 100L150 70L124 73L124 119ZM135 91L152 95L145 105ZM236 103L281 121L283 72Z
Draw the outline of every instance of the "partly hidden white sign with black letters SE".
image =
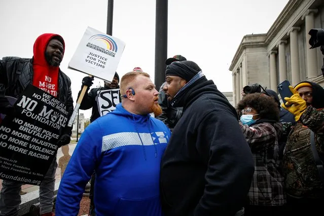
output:
M113 112L120 103L120 89L102 90L97 92L97 102L100 116Z

